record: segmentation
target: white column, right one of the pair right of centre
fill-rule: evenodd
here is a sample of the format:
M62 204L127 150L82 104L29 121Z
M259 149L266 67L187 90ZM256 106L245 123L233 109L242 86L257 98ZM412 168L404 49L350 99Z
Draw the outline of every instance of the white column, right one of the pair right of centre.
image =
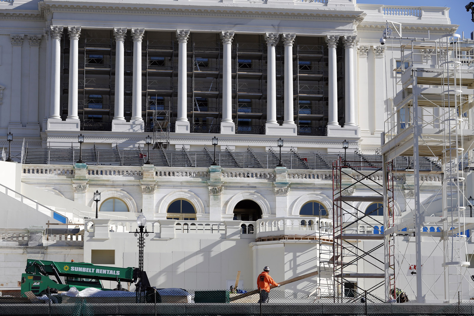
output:
M295 124L293 120L293 42L296 34L283 33L285 46L285 81L284 81L284 121L283 124Z

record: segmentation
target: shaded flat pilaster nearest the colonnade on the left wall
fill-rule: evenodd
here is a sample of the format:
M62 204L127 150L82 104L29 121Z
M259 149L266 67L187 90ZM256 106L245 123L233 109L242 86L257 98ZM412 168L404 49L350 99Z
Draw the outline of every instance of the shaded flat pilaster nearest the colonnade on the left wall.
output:
M27 124L38 125L38 75L39 75L39 44L42 35L29 35L29 101ZM39 128L39 127L38 127Z

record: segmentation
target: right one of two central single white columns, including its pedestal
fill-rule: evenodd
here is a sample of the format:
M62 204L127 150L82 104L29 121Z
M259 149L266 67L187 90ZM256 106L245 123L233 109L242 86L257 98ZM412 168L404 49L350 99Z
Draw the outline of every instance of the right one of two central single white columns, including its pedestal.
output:
M224 46L224 62L222 74L222 121L220 123L221 134L235 134L235 124L232 121L232 39L234 32L222 32L220 34Z

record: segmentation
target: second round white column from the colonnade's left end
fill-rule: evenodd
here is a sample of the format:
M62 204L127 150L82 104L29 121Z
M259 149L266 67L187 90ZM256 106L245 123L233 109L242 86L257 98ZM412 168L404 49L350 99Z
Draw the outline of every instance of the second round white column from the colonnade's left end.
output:
M67 119L79 119L77 116L77 89L78 89L78 67L79 67L79 36L81 27L68 27L69 48L69 103Z

